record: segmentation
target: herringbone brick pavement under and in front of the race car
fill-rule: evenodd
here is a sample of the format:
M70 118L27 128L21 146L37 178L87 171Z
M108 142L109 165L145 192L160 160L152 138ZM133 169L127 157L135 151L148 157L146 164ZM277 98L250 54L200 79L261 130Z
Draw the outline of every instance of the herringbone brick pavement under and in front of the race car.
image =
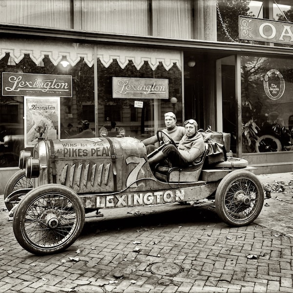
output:
M86 220L66 251L35 256L17 243L2 197L0 208L0 293L85 292L86 285L87 292L96 286L115 293L293 292L293 238L254 223L230 228L211 209L170 204L140 208L143 216L105 210L104 218ZM150 272L157 262L182 270Z

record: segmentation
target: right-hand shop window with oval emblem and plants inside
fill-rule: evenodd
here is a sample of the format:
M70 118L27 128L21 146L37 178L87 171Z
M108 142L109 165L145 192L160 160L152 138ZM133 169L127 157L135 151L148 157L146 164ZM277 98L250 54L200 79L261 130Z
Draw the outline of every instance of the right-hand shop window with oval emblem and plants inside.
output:
M241 58L243 152L293 150L293 61Z

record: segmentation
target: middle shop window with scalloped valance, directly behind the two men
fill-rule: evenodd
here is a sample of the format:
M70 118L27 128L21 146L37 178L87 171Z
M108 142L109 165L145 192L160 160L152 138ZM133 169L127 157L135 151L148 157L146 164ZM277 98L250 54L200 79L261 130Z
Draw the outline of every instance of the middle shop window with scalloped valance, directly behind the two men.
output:
M182 125L179 51L115 46L97 46L97 51L99 131L103 126L111 130L111 122L115 122L126 136L144 139L165 128L164 113L168 111Z

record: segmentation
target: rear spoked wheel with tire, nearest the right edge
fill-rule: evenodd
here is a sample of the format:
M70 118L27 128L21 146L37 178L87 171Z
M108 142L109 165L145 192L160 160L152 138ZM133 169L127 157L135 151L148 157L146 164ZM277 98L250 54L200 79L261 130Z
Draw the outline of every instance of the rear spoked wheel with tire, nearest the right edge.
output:
M216 212L230 226L240 227L252 223L263 204L263 186L247 170L232 171L223 178L216 190Z

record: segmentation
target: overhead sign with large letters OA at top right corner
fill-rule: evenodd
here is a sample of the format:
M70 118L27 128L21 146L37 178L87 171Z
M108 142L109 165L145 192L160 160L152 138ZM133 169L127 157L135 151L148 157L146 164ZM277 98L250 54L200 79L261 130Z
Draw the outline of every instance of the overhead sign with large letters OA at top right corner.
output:
M293 44L293 23L239 16L242 40Z

